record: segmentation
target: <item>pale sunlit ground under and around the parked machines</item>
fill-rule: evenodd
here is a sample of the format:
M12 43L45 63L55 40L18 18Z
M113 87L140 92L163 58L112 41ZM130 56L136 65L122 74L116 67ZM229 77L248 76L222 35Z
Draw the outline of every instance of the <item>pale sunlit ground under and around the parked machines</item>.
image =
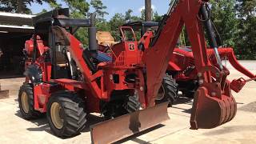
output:
M256 74L256 62L242 62ZM229 65L228 65L229 66ZM229 78L242 75L230 70ZM50 132L46 118L26 121L18 110L18 88L23 78L1 79L2 90L10 90L10 98L0 100L0 143L90 143L90 124L100 118L90 115L89 124L74 138L57 138ZM249 82L239 93L233 92L238 102L238 113L233 121L211 130L190 130L192 100L179 98L178 104L168 109L170 120L154 126L118 143L256 143L256 82Z

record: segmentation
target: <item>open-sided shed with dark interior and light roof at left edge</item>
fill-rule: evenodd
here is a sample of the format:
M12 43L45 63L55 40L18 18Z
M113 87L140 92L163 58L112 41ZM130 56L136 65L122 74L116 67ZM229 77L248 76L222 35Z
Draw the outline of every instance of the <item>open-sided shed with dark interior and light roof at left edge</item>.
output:
M24 70L24 43L34 32L29 14L0 12L0 78L21 76Z

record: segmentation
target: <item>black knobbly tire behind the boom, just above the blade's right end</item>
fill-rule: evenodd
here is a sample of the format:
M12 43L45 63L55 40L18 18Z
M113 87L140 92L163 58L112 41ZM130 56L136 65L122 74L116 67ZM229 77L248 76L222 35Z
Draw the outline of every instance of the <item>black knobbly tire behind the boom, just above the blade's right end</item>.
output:
M175 79L166 74L162 80L162 87L160 90L163 90L164 93L162 94L162 97L156 99L155 103L160 104L162 102L169 102L168 106L172 106L178 98L178 84ZM158 94L160 93L160 90L158 91Z

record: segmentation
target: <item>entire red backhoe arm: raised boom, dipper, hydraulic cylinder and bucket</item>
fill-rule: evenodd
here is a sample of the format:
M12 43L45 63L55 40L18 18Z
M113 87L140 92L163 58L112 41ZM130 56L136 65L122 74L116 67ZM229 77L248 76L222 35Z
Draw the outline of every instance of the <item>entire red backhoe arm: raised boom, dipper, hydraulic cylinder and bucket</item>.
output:
M154 106L156 95L166 73L166 67L182 27L186 27L194 55L194 65L198 71L199 88L194 96L191 129L210 129L232 120L237 111L237 103L230 92L227 81L229 71L222 66L218 48L222 46L219 34L210 19L207 0L174 1L168 14L164 16L155 33L150 48L143 54L146 64L146 102ZM205 31L216 65L207 56Z

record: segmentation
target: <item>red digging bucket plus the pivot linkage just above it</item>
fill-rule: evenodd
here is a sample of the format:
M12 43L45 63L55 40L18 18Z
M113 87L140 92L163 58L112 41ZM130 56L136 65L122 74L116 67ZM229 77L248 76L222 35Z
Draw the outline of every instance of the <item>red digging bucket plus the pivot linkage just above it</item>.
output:
M230 92L230 84L226 82L226 74L216 67L206 67L217 74L214 82L205 82L200 74L200 86L194 95L192 114L190 117L191 129L210 129L230 122L236 114L237 103Z

